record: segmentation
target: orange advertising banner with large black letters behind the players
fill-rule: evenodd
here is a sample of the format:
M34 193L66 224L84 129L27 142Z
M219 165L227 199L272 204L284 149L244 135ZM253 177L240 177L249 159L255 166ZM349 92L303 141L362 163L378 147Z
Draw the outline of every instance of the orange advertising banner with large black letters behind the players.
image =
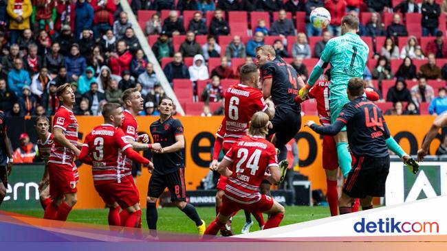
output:
M416 154L417 148L422 144L424 136L435 117L433 116L395 116L386 117L386 123L396 141L404 150ZM92 128L100 125L102 117L77 117L79 134L87 135ZM138 130L149 134L149 126L157 117L138 117ZM211 147L214 144L215 132L221 123L222 117L179 117L184 125L186 141L186 189L195 190L200 180L208 173L208 165L211 160ZM318 121L316 116L303 117L303 123L309 119ZM150 135L150 134L149 134ZM309 128L302 128L297 135L298 152L300 156L300 173L309 176L312 181L312 189L326 191L326 178L322 166L322 147L320 136ZM440 139L440 136L439 136ZM439 140L431 146L431 153L435 153ZM104 203L94 190L91 169L87 165L79 168L80 182L78 184L78 203L76 208L102 208ZM140 201L146 201L149 173L142 170L142 176L137 178L137 186L140 191ZM145 206L145 203L142 203Z

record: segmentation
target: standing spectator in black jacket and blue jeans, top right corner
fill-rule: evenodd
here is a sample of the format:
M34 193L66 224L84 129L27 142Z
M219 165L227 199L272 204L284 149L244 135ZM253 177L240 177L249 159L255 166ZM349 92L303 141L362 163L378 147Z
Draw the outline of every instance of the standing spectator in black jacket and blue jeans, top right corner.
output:
M437 35L437 27L439 26L439 15L441 14L441 8L439 4L435 3L435 0L426 0L422 3L422 36L435 36Z

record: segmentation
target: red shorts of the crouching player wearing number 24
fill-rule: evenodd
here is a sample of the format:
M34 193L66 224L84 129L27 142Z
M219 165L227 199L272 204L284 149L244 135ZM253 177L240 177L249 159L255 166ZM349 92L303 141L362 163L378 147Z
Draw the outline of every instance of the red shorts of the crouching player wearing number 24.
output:
M243 209L250 213L263 213L269 211L273 206L273 198L268 195L261 194L261 200L252 204L242 204L228 199L225 195L222 198L222 206L219 213L222 215L233 215L237 211Z

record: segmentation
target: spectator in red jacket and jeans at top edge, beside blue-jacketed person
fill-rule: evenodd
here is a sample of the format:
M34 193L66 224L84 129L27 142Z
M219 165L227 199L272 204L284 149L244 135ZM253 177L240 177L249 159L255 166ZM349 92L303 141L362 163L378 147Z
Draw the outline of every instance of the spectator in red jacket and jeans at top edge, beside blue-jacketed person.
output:
M93 34L96 40L113 27L113 13L116 12L116 5L113 0L91 0L90 4L94 10Z

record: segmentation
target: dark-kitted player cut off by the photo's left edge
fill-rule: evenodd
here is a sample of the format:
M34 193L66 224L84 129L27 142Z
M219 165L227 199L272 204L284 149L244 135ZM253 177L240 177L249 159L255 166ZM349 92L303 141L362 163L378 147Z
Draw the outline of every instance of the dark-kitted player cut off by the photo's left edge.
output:
M12 147L8 138L8 127L6 126L6 116L0 110L0 205L6 196L8 187L8 176L12 170Z

